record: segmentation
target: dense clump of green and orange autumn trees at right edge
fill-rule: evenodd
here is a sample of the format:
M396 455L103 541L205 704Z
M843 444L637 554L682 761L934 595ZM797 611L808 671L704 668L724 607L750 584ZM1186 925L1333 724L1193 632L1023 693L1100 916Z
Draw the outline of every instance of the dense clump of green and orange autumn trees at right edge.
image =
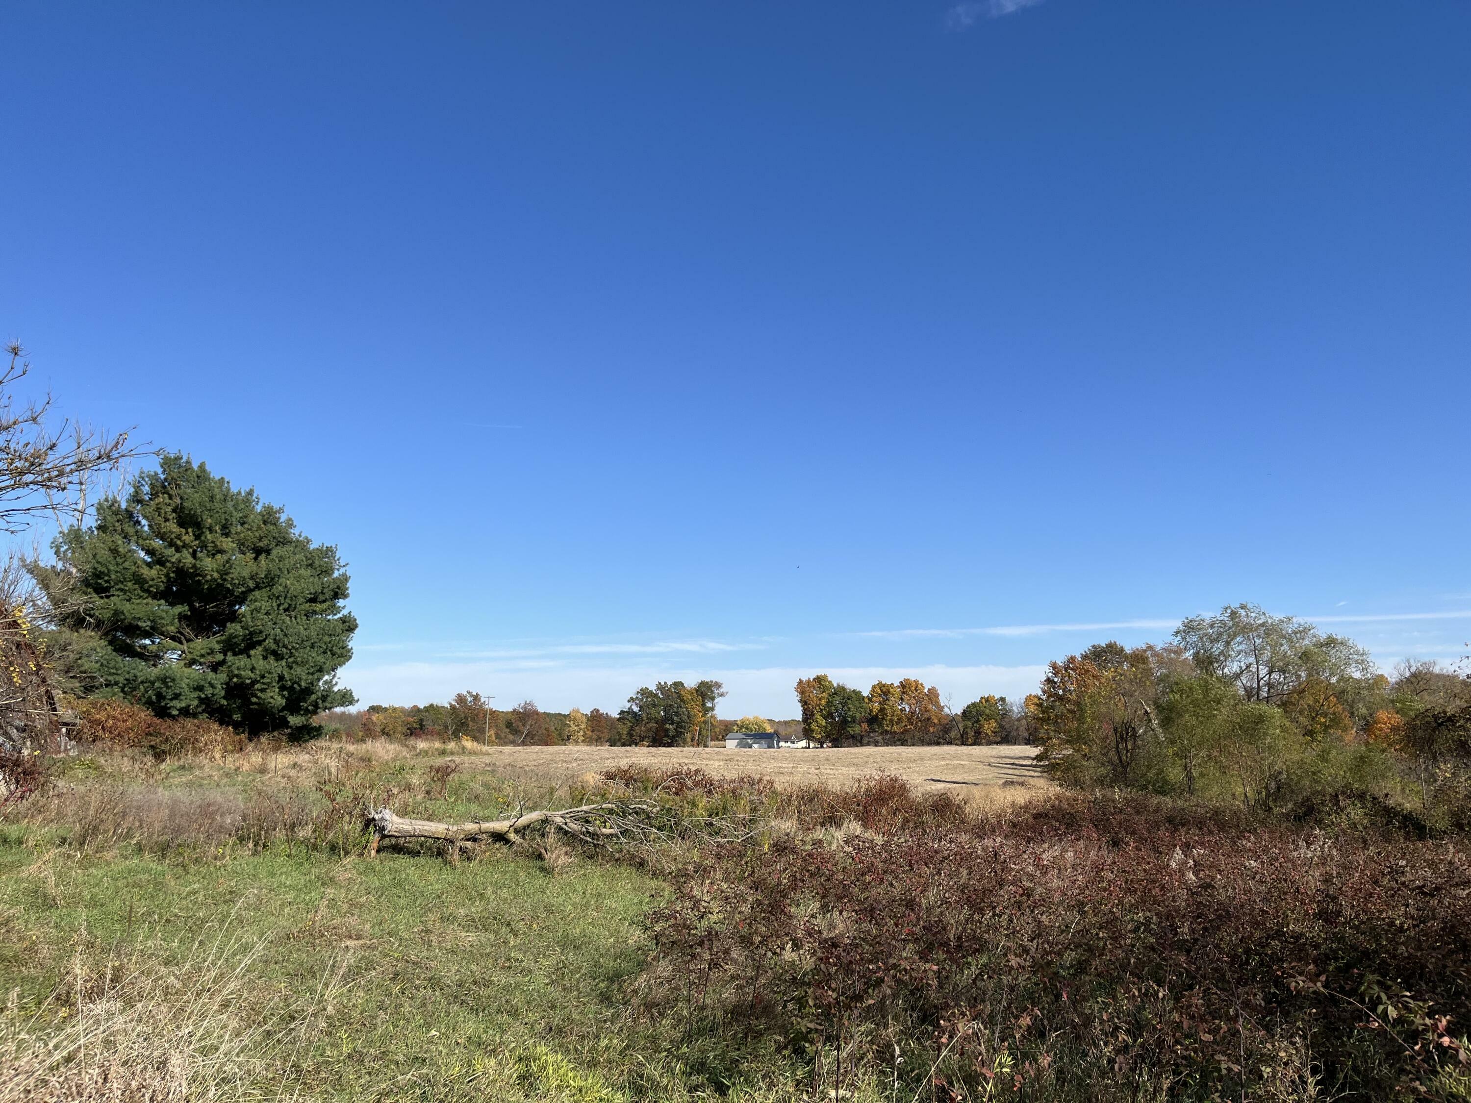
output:
M1425 831L1471 828L1464 674L1421 663L1390 681L1353 641L1249 604L1192 618L1175 641L1049 666L1027 716L1055 778L1256 810L1414 803Z

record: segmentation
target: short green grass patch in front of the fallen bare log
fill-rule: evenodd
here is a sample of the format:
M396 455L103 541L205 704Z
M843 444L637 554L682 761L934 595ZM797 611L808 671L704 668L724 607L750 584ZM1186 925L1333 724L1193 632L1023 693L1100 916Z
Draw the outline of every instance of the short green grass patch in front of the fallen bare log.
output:
M16 991L22 1010L51 1000L54 1015L76 954L143 957L187 987L203 940L252 956L244 1027L310 1010L288 1050L309 1097L616 1099L631 1060L621 991L656 897L640 874L593 860L558 877L505 852L456 866L302 852L185 863L78 856L12 828L0 996Z

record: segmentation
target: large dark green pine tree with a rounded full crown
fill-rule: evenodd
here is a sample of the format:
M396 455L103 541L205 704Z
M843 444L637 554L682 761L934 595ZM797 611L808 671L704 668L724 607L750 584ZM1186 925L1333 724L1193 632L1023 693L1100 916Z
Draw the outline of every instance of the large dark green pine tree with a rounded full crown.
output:
M307 734L355 702L337 685L357 629L337 549L203 463L165 454L56 552L38 581L85 640L88 690L252 735Z

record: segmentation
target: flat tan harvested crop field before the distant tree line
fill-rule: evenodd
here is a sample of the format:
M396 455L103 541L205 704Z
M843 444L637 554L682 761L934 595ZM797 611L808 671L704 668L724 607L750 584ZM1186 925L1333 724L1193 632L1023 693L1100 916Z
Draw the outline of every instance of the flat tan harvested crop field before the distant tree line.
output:
M727 750L725 747L485 747L472 760L521 781L565 785L615 766L696 766L716 777L755 774L778 785L852 785L891 774L918 790L1008 799L1049 782L1036 747L841 747L827 750Z

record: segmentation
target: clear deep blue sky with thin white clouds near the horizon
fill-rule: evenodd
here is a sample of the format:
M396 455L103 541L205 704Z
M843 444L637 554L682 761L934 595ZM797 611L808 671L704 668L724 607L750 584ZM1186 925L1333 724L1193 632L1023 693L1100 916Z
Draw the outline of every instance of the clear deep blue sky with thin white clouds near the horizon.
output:
M340 547L365 702L959 706L1240 600L1467 650L1464 0L0 35L0 335Z

